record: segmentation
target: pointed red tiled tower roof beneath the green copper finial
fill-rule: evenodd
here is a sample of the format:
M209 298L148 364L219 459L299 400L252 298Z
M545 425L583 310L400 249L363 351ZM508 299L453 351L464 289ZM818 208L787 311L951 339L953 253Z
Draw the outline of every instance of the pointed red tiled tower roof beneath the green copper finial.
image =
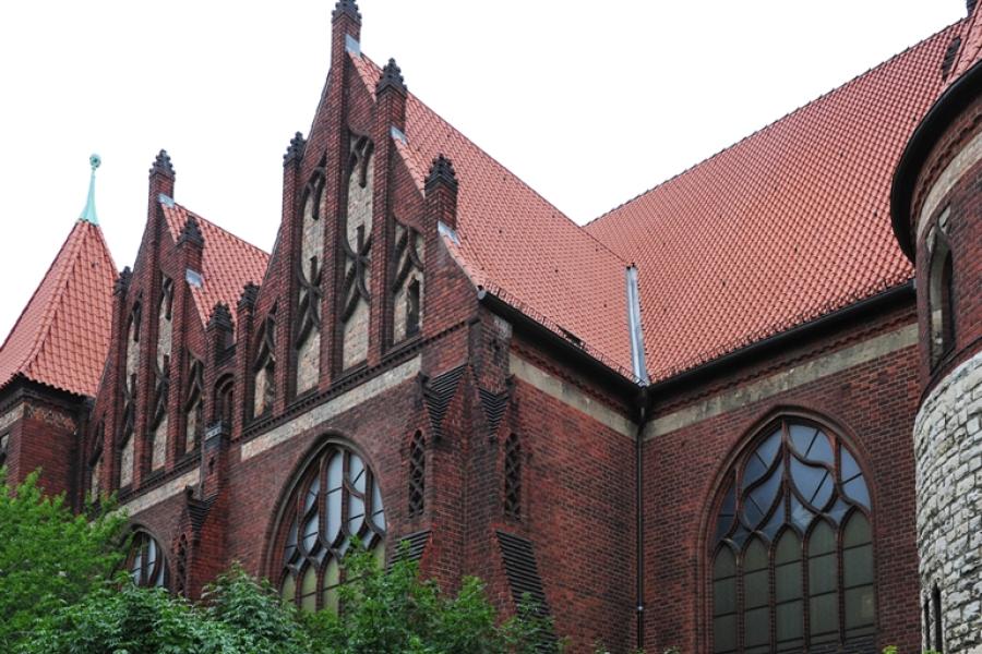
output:
M109 351L116 276L101 230L76 221L0 347L0 389L20 376L95 397Z

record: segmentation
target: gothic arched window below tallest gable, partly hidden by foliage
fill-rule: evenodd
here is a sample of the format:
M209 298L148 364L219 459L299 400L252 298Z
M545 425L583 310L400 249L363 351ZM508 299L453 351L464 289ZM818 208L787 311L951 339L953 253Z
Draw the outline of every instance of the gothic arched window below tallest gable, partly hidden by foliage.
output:
M285 529L284 529L285 528ZM332 443L300 475L280 528L279 589L306 610L338 608L340 566L355 538L385 556L385 510L375 475L350 449Z

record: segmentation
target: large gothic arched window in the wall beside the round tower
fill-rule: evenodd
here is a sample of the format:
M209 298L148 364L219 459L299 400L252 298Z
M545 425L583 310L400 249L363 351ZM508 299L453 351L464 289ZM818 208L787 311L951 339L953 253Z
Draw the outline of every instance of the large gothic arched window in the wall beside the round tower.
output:
M709 543L712 652L871 639L870 509L855 456L833 431L800 417L764 429L727 474Z

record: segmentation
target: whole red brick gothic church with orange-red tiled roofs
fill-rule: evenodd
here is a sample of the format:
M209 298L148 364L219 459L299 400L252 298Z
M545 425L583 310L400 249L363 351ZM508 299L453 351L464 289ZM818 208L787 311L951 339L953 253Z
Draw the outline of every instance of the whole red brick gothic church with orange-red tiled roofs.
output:
M0 458L117 493L134 581L192 598L241 561L334 608L352 540L408 541L573 652L982 652L968 9L578 227L340 0L272 253L161 150L132 266L87 211L0 350Z

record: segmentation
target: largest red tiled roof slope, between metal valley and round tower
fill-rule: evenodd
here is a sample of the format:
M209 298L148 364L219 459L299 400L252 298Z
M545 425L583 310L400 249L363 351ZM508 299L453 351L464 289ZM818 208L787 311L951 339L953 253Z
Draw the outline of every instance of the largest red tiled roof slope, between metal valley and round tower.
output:
M652 379L911 279L890 182L965 23L587 226L638 264Z

